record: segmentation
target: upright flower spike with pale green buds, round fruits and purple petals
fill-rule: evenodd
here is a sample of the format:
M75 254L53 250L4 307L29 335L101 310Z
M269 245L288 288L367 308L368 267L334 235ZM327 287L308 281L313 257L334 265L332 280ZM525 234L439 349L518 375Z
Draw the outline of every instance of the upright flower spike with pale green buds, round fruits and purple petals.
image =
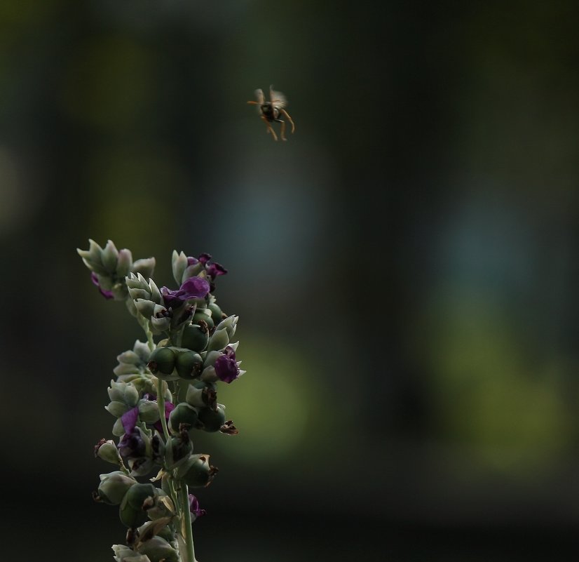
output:
M196 430L238 433L217 401L220 382L243 375L233 341L238 316L227 316L214 290L226 269L208 254L173 252L179 288L158 288L151 279L155 259L132 262L130 250L90 241L78 250L93 283L107 299L124 300L144 328L118 355L106 409L115 417L112 434L95 456L116 465L101 474L97 502L117 505L128 528L127 544L114 545L117 562L195 562L191 523L205 514L189 488L208 486L217 474L209 455L193 453ZM159 336L158 341L154 336ZM156 474L146 483L137 478ZM153 482L160 482L155 486Z

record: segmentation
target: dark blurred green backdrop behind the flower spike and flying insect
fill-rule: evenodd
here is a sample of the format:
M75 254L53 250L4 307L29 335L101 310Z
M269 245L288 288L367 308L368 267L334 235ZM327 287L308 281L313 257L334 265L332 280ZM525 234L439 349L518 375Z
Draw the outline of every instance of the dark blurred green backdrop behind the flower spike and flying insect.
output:
M575 559L579 6L3 0L6 559L112 560L116 354L76 255L229 269L201 561ZM287 95L273 142L252 100Z

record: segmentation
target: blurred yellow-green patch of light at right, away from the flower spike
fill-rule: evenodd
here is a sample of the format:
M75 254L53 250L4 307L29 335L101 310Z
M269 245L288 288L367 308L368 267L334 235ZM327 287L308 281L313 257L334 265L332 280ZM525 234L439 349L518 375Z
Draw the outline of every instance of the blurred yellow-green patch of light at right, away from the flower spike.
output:
M427 359L436 439L494 469L547 469L573 439L561 366L529 357L529 334L490 300L455 295L440 305Z

